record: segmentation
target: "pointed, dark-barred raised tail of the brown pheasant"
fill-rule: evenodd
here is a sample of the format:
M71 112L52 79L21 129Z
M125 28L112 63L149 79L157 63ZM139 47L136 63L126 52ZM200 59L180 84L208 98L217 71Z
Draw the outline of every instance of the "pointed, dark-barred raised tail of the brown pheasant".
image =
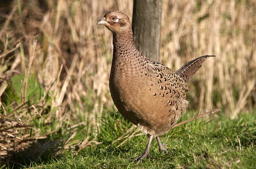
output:
M191 80L192 76L195 75L195 73L201 67L202 63L208 57L215 57L215 56L206 55L206 56L198 57L198 58L186 63L186 65L183 65L179 70L177 70L176 73L178 75L180 75L180 77L182 77L185 82L188 83Z

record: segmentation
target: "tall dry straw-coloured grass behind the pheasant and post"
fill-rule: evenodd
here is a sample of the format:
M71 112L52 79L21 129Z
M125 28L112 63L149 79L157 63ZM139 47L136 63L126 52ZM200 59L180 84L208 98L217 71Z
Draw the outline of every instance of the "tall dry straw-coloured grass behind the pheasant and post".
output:
M108 88L112 34L103 26L96 26L96 22L113 9L124 11L131 20L132 1L3 2L0 7L0 96L6 95L12 76L24 74L25 80L21 103L14 101L11 105L14 106L12 116L6 117L9 106L0 100L1 120L23 119L28 110L33 115L42 115L50 106L53 116L42 115L41 120L47 124L54 117L59 122L56 130L64 121L70 126L77 125L76 119L81 114L84 121L90 121L89 128L93 127L97 123L95 117L101 116L104 107L113 106ZM163 0L161 27L160 62L173 70L199 56L217 56L207 60L192 79L188 93L190 109L221 108L235 118L240 111L250 112L255 108L254 0ZM44 88L44 97L25 107L26 79L31 74L37 76ZM51 98L50 103L44 100L47 96ZM24 109L20 111L20 107ZM15 112L19 113L14 116ZM28 125L29 120L18 123ZM9 120L8 125L17 124ZM7 137L19 140L16 136ZM24 138L32 139L29 135ZM36 134L33 139L37 139Z

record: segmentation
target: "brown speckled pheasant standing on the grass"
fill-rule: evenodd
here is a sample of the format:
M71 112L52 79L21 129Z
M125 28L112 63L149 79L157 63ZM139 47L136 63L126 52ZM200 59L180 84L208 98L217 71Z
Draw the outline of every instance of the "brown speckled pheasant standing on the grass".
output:
M137 50L128 16L122 11L109 11L97 22L113 34L113 59L109 79L111 97L119 112L137 125L149 141L137 161L149 156L154 138L159 150L167 152L159 136L177 123L188 106L188 82L209 55L188 62L174 72L151 61Z

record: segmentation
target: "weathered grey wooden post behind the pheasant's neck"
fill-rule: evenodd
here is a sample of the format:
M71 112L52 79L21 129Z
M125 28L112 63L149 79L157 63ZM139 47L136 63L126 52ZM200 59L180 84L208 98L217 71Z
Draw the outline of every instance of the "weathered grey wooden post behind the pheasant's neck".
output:
M134 0L132 31L138 50L159 62L162 0Z

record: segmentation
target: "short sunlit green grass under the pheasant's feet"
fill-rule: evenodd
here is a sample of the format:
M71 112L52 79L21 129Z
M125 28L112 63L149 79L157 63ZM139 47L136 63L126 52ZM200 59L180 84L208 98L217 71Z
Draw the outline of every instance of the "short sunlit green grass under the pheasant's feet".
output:
M190 118L189 112L180 121ZM195 121L176 127L161 139L169 153L158 151L154 140L150 158L137 164L131 158L143 153L147 137L131 138L108 146L122 135L131 124L119 113L109 113L102 120L98 146L87 147L73 155L65 151L59 158L49 158L41 163L28 163L23 167L44 169L73 168L255 168L256 164L256 113L240 114L230 120L225 116L213 120ZM134 129L135 130L135 129ZM108 146L108 148L105 148Z

